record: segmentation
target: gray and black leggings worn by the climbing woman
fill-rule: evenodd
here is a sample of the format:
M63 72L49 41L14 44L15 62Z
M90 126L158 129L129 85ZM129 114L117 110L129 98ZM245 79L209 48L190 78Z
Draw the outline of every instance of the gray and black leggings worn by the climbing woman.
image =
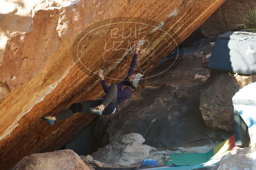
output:
M111 84L108 87L108 91L104 98L98 100L86 100L80 103L73 103L68 109L62 110L60 113L56 114L55 117L57 122L60 120L67 119L71 117L74 113L90 113L90 108L99 106L103 104L105 109L102 115L111 115L116 111L116 98L117 98L117 86L116 84Z

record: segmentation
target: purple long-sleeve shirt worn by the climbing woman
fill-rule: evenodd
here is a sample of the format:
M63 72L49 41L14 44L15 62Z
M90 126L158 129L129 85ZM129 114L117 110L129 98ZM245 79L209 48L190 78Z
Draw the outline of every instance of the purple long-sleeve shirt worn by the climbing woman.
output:
M127 78L128 78L129 75L134 74L134 68L136 66L137 59L138 59L138 54L134 53L133 57L132 57L132 62L131 62L130 69L129 69L128 74L126 76L126 81L123 80L120 83L116 84L116 86L117 86L116 110L117 110L117 107L118 107L119 104L124 102L126 99L128 99L132 95L132 90L130 90L128 88L124 88L124 91L122 91L121 88L123 86L126 86L126 85L132 85L130 83L130 81L127 81ZM102 85L102 88L103 88L104 92L107 93L108 85L107 85L105 79L101 80L100 83ZM104 98L104 96L103 96L103 98Z

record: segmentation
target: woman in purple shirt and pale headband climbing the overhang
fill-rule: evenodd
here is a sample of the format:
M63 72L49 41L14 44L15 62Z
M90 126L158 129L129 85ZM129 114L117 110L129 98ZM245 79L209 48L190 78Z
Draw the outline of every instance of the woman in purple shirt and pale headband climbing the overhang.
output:
M71 117L76 112L80 113L96 113L98 115L111 115L115 113L119 104L129 98L132 93L135 95L144 88L146 79L141 78L143 75L138 73L134 74L134 68L138 59L140 51L140 43L135 46L135 53L133 54L132 62L126 79L118 84L111 84L109 87L103 77L103 71L98 70L100 76L100 83L104 92L106 93L103 98L98 100L86 100L80 103L72 104L68 109L61 111L55 116L43 116L42 119L47 121L48 124L53 124ZM138 98L138 97L137 97Z

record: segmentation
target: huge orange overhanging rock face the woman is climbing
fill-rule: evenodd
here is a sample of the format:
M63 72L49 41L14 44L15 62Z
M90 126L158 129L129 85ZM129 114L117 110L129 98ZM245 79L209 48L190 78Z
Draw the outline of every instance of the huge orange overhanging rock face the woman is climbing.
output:
M108 83L122 80L132 47L144 39L135 72L147 75L223 2L6 2L10 8L0 14L1 169L60 149L95 118L76 113L54 127L40 119L100 98L97 69L106 70Z

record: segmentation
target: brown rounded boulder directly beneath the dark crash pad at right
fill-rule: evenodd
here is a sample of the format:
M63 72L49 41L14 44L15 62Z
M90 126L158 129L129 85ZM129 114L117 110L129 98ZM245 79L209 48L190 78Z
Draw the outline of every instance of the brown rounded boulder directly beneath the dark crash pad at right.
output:
M231 77L228 73L211 71L210 81L200 94L200 110L205 124L215 130L234 131L232 97L256 76Z

